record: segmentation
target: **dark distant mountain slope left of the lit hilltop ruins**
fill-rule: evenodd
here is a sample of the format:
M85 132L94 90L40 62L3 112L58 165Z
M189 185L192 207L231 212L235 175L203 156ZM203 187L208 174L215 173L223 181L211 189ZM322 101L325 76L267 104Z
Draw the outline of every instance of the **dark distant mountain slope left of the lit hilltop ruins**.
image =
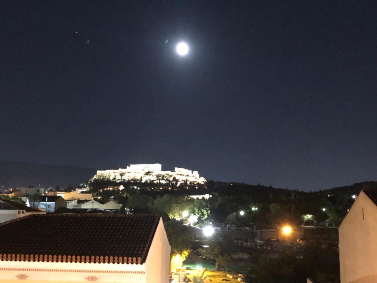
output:
M96 170L90 168L0 161L0 189L26 186L55 188L57 184L60 188L78 186L95 173Z

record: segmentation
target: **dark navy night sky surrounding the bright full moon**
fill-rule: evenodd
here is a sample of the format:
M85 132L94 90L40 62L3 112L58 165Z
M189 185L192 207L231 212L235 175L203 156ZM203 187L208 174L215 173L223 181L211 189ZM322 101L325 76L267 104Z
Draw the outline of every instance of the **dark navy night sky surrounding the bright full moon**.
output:
M377 180L374 2L153 2L1 2L0 160Z

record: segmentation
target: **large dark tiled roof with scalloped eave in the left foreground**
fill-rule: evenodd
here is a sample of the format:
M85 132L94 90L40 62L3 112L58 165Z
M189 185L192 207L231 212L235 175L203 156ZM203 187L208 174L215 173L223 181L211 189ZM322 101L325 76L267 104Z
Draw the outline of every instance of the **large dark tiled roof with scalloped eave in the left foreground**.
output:
M159 215L29 215L0 224L0 260L142 264L159 219Z

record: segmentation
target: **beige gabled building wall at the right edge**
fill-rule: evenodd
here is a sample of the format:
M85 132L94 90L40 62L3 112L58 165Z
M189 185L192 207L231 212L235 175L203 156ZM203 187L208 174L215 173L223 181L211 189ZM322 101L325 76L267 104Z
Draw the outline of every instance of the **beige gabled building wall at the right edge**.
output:
M339 227L341 283L377 282L377 206L360 192Z

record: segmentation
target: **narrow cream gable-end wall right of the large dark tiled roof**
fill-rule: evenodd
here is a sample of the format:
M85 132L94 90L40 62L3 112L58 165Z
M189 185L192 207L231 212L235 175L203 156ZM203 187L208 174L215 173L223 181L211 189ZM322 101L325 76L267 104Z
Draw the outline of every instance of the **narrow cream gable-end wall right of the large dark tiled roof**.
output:
M147 283L169 283L170 249L160 218L145 262Z

